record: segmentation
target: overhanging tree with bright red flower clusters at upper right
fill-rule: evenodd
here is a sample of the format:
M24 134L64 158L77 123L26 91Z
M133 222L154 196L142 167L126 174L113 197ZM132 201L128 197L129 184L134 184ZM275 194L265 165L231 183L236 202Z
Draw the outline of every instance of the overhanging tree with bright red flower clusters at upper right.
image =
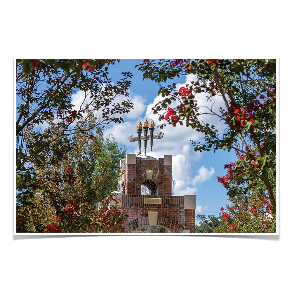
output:
M152 108L159 120L164 121L160 128L168 123L204 133L203 142L192 141L195 151L240 152L242 157L230 172L248 174L255 182L259 179L275 213L276 194L268 173L276 165L276 60L144 60L137 66L143 79L151 79L160 86L158 93L164 99ZM197 78L180 88L175 82L165 85L167 80L182 74L194 74ZM196 94L201 92L206 93L210 106L198 105ZM224 108L213 108L215 96L223 99ZM215 126L201 121L205 114L224 121L223 135L218 134ZM252 187L253 184L239 182L227 194L230 197L248 194Z

